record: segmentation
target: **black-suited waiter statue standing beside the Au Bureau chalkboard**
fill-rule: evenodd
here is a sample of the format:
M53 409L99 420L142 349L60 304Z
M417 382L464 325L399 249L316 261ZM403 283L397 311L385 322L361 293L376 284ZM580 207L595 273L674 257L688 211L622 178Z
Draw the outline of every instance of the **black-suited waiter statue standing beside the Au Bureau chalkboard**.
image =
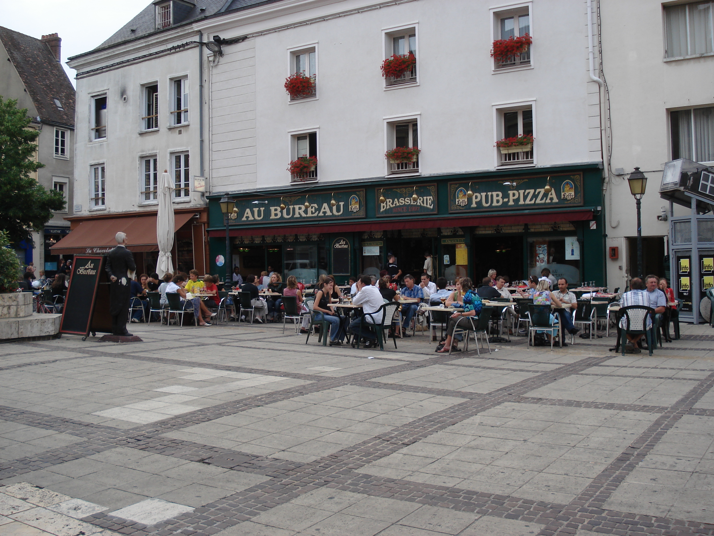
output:
M116 233L117 246L106 254L106 273L111 279L109 287L109 314L111 332L115 335L131 337L126 330L129 319L129 299L131 299L131 278L129 272L136 270L134 255L126 249L126 233Z

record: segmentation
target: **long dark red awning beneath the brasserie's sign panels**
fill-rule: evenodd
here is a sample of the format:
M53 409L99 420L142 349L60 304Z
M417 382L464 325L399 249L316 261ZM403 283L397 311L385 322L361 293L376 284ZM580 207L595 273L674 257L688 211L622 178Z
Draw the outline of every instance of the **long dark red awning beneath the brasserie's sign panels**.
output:
M262 229L231 229L231 237L251 237L257 235L272 236L274 234L302 233L340 233L350 231L388 231L391 229L431 229L433 227L473 227L476 225L514 225L544 222L579 222L593 219L592 210L573 210L570 212L545 212L535 214L499 214L498 216L483 214L483 216L407 219L399 221L379 221L362 223L320 224L292 227L263 227ZM209 237L225 237L223 230L208 231Z

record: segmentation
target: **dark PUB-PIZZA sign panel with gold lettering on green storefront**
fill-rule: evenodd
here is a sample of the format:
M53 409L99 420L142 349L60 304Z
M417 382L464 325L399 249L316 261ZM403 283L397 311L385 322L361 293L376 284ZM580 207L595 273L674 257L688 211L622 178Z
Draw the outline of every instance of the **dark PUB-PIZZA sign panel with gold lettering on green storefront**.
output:
M486 212L583 205L583 175L450 182L449 212Z

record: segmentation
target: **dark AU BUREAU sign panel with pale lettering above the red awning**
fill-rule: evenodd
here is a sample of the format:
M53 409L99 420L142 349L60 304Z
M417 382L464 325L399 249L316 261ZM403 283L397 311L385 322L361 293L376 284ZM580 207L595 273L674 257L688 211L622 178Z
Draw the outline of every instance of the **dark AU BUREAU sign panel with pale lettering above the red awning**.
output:
M233 224L363 218L364 190L237 199Z

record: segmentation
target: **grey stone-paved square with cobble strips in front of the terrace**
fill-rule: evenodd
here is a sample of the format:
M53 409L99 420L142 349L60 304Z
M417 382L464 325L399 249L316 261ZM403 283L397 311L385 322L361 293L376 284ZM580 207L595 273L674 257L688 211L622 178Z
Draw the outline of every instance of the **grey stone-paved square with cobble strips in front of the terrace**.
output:
M132 329L3 346L0 534L714 535L705 327L653 357Z

